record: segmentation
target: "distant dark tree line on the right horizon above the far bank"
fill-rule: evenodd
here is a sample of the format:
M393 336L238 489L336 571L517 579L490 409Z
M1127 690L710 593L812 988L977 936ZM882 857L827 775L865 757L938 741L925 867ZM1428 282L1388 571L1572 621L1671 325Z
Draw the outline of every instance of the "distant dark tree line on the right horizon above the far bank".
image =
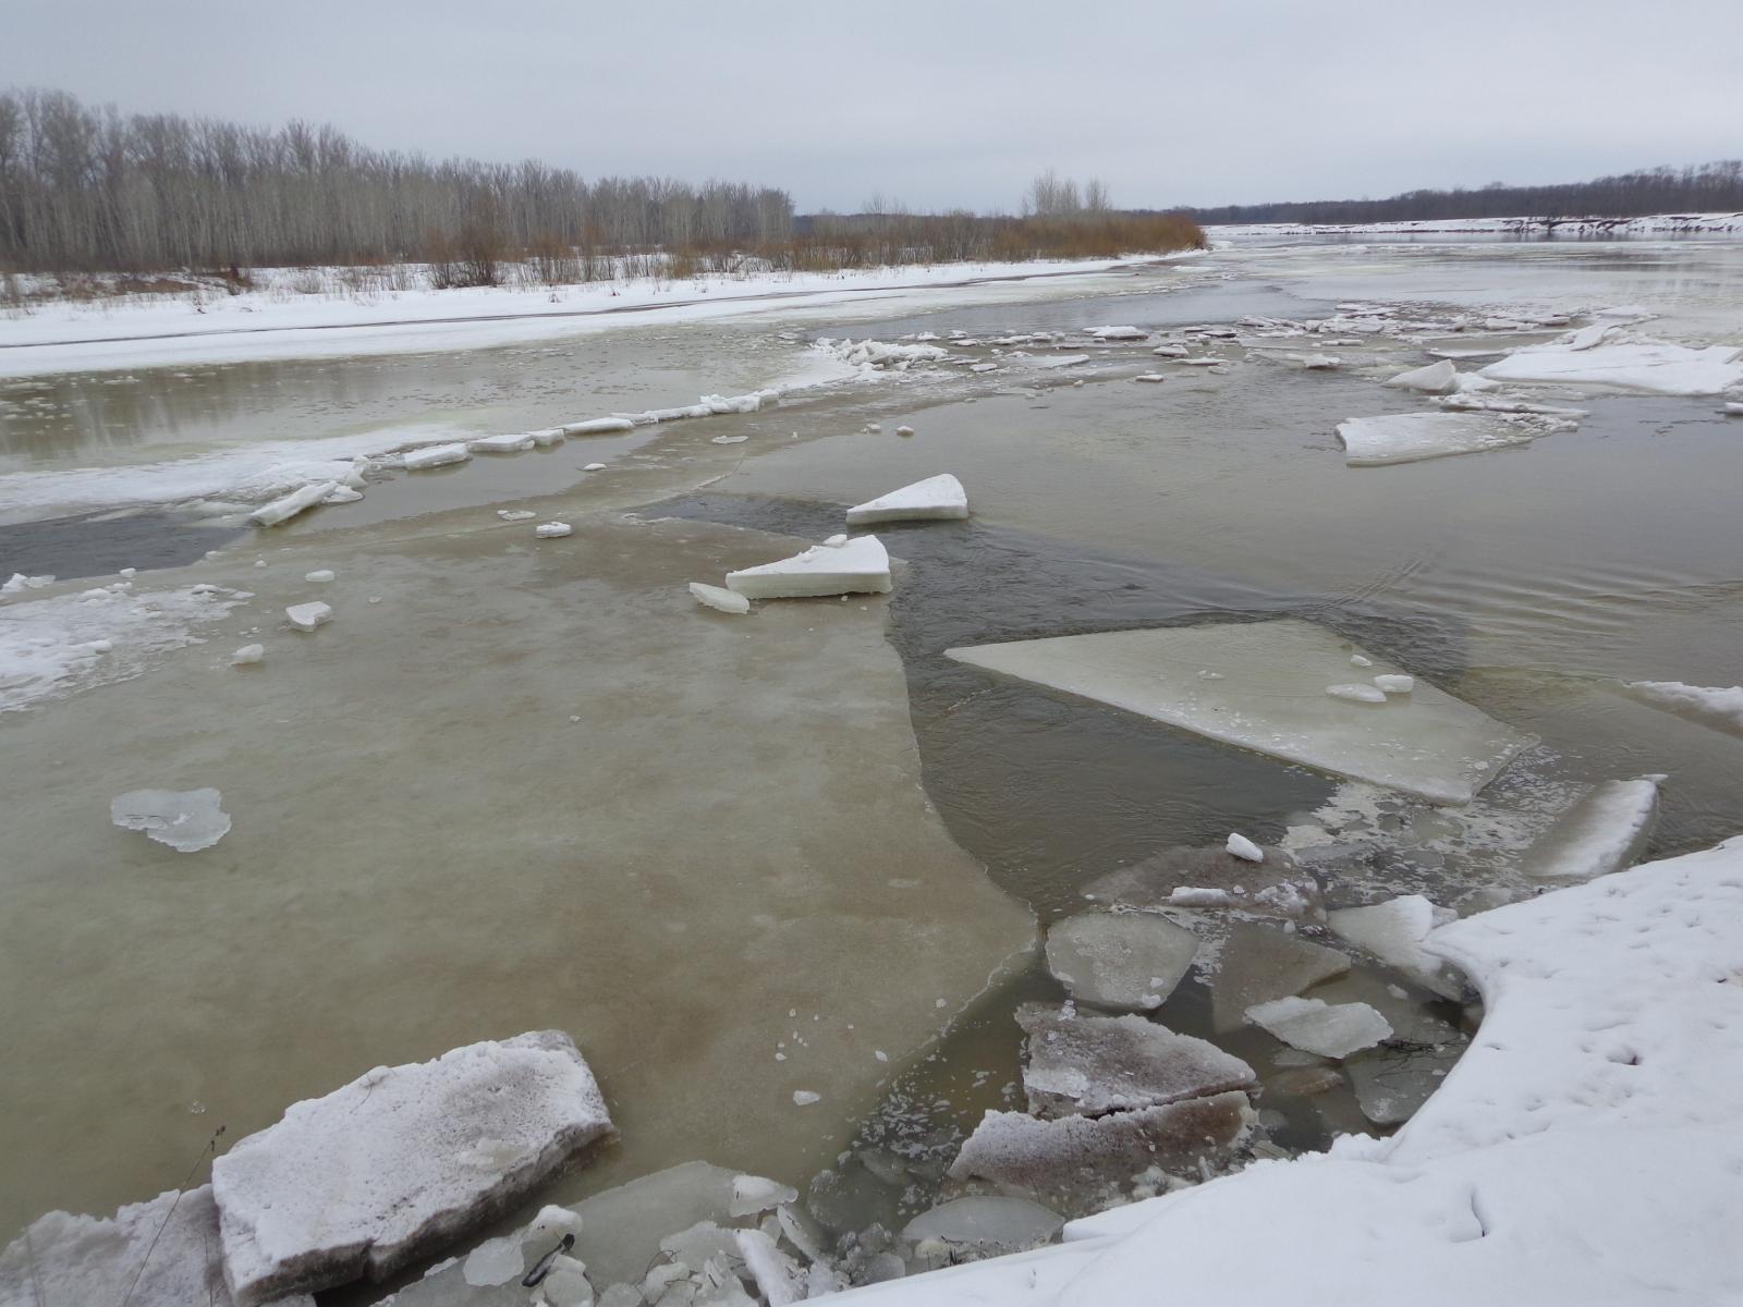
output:
M1743 160L1651 167L1556 186L1412 190L1384 200L1304 200L1180 209L1199 223L1394 223L1433 218L1644 218L1743 211Z

